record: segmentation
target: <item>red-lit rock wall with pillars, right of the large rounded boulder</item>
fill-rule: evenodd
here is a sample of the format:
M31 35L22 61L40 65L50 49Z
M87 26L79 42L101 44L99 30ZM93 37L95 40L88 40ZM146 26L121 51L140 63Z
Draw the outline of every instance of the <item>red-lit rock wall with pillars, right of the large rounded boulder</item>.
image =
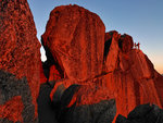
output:
M115 94L116 113L126 116L136 106L148 102L162 108L162 90L158 84L162 86L163 78L158 77L150 60L141 50L131 49L130 36L117 38L117 33L109 34L105 35L111 41L105 61L109 71L105 86Z

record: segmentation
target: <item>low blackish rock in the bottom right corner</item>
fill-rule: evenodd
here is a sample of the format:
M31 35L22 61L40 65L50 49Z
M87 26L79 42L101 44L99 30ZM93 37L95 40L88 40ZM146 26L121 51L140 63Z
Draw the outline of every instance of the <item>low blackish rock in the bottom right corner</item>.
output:
M118 115L116 123L162 123L163 110L154 104L136 107L127 118Z

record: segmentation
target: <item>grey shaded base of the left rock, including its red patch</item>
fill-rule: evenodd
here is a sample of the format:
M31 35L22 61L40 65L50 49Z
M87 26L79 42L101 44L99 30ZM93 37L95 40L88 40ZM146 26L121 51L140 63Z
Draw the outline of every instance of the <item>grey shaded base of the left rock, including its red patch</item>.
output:
M26 77L0 70L0 123L37 123L35 106Z

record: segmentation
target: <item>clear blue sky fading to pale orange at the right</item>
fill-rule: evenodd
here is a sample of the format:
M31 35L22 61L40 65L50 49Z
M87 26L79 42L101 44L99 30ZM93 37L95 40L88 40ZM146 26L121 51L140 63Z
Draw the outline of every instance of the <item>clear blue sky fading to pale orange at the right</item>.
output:
M45 33L50 11L58 5L78 4L97 13L106 32L133 36L154 67L163 73L163 0L28 0L37 28ZM41 48L41 59L46 60Z

